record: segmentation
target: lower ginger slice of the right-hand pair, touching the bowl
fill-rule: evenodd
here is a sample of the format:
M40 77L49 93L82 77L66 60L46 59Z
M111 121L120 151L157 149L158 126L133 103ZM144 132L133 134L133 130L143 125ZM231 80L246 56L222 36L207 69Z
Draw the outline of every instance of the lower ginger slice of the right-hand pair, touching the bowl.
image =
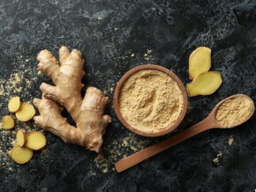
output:
M186 90L189 97L209 95L222 85L222 76L218 71L209 71L200 74L192 83L187 84Z

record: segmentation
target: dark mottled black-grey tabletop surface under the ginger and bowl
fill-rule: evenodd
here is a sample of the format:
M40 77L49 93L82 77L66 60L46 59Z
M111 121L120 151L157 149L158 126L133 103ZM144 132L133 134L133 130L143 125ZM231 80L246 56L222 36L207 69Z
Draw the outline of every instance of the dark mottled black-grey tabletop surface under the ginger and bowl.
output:
M81 50L87 61L84 83L104 90L111 99L124 72L144 63L173 70L187 83L192 50L212 48L212 70L221 71L223 84L213 95L190 99L190 110L177 132L205 118L231 94L245 93L256 101L255 10L253 0L2 0L1 115L7 114L11 95L26 101L41 96L39 85L50 80L37 74L36 55L43 48L56 55L62 45ZM21 82L10 85L13 74ZM15 87L20 86L23 91L18 92ZM104 136L100 163L94 152L46 133L46 150L35 152L29 163L19 166L5 155L18 128L0 130L0 191L255 190L255 114L236 129L208 130L117 174L113 162L165 137L133 135L117 121L112 103L107 113L113 122ZM26 127L38 129L33 123Z

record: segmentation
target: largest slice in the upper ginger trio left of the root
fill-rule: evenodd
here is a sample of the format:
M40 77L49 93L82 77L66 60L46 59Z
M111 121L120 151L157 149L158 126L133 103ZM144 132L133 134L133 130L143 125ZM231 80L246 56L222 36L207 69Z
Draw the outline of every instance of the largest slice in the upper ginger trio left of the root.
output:
M19 110L15 113L20 122L27 122L34 117L34 106L29 103L21 103Z

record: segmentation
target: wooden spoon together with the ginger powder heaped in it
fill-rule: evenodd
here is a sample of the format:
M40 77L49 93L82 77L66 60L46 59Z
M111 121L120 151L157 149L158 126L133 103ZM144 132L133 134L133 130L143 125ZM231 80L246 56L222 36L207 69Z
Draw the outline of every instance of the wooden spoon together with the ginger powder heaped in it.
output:
M207 129L230 129L236 127L249 120L254 111L254 103L250 97L245 94L232 95L219 102L203 121L198 122L189 129L184 129L184 131L163 140L159 144L149 146L142 151L117 161L115 163L117 172L123 172L143 160L153 157L155 154L169 149L169 147L179 144Z

